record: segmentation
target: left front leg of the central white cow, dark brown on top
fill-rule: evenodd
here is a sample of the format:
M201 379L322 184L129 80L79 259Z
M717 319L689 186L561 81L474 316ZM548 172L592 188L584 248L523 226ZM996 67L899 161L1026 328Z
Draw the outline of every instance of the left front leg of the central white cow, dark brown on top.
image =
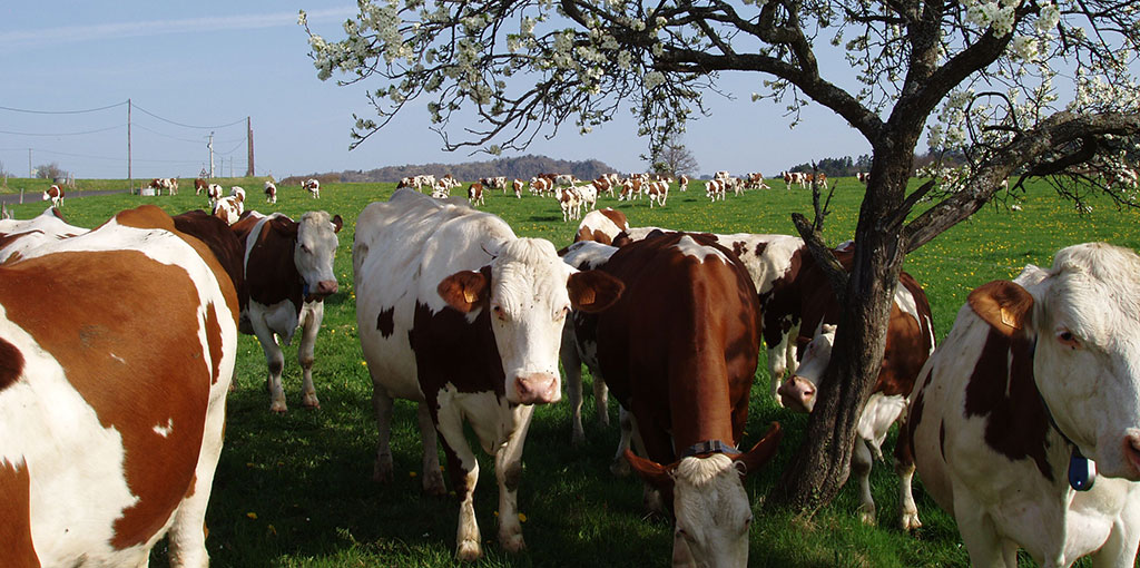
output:
M461 561L478 560L483 555L475 521L475 484L479 481L479 462L467 445L463 432L463 416L453 403L437 412L437 430L443 438L447 469L451 485L459 497L459 524L456 529L455 558Z

